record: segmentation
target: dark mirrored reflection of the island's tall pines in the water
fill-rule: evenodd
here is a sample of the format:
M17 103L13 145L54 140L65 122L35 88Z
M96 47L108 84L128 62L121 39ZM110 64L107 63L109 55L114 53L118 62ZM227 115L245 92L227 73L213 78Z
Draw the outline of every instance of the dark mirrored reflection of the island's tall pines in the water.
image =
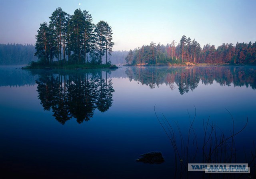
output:
M43 73L36 81L38 98L44 110L52 109L53 116L61 124L70 118L78 123L92 118L94 110L105 112L112 105L111 80L99 73L54 74Z

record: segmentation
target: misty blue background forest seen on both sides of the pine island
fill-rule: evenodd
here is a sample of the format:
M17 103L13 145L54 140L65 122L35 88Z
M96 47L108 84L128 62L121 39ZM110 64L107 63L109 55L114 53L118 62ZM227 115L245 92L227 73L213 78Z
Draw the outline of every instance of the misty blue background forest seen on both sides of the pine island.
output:
M31 61L37 61L37 57L34 56L36 52L35 46L32 44L0 44L0 65L27 65ZM128 51L112 51L111 55L108 55L108 61L112 64L124 64L125 57ZM102 61L106 59L105 55L102 56ZM92 59L89 57L89 61ZM54 61L58 61L57 58Z

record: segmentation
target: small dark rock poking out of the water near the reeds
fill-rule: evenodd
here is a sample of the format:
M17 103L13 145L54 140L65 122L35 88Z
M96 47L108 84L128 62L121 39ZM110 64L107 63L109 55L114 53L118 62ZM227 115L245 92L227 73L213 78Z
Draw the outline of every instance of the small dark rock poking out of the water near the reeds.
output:
M143 163L150 163L150 164L153 164L153 163L159 164L164 162L164 157L162 156L161 152L151 151L151 152L140 155L140 157L136 159L136 161L141 161Z

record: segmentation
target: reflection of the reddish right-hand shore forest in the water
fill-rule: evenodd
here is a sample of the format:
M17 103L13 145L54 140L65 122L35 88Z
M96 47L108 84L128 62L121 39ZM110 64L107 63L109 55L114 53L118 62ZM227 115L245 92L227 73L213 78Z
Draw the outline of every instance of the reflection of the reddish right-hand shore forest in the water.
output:
M134 81L147 85L151 89L161 84L178 87L180 94L193 91L200 80L202 84L212 84L214 81L222 85L246 86L256 88L256 69L254 67L128 67L126 75ZM176 85L175 85L176 84Z

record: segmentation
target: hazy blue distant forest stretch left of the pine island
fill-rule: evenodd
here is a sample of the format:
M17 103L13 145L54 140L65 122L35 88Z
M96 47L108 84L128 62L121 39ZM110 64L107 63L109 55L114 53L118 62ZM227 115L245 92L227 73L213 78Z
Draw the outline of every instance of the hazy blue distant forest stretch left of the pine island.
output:
M0 65L25 65L36 61L35 46L32 44L0 44Z

